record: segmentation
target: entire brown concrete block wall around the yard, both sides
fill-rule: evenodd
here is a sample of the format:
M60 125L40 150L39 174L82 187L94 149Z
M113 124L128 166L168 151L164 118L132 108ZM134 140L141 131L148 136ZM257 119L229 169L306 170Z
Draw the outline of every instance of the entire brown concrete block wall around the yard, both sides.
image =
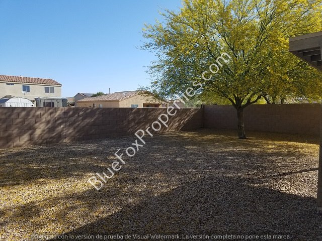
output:
M168 131L201 127L236 129L231 105L183 108L170 116ZM150 127L163 108L0 107L0 148L133 135ZM258 104L244 110L246 132L319 135L320 104ZM156 126L157 127L157 126Z

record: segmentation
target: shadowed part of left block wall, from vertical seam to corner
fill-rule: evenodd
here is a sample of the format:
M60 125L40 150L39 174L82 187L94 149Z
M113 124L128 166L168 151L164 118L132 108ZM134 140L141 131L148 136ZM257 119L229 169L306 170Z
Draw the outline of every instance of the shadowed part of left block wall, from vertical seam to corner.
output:
M64 141L67 142L133 135L137 130L148 127L153 133L152 123L158 121L160 114L167 113L162 108L76 108L66 111L69 112L69 117L64 119ZM194 130L202 126L200 109L177 111L176 115L169 115L166 123L169 127L162 125L156 133ZM165 121L164 116L162 119ZM158 125L154 127L159 128Z

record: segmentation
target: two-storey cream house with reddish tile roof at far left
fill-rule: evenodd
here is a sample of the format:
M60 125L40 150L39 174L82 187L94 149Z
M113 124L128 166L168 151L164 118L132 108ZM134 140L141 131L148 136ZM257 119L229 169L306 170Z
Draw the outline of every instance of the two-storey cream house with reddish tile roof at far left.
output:
M61 84L53 79L0 75L0 98L61 97Z

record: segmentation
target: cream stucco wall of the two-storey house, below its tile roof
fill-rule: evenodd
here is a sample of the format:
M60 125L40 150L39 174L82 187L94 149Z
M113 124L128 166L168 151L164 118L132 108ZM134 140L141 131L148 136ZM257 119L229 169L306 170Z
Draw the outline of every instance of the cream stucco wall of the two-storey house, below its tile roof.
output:
M7 83L13 83L14 85L7 85ZM30 92L22 93L22 86L29 85ZM55 93L45 93L45 87L54 87ZM37 97L61 97L60 85L46 85L46 84L29 84L29 83L14 83L0 81L0 98L6 95L12 95L12 97L22 97L30 100L34 100Z

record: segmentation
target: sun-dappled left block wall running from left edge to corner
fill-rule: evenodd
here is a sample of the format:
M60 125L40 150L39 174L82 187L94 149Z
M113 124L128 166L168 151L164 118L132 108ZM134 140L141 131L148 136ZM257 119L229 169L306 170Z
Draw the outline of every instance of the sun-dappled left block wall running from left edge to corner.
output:
M159 132L202 127L202 110L185 108ZM0 148L132 135L146 129L162 108L0 107ZM157 127L157 126L156 126Z

